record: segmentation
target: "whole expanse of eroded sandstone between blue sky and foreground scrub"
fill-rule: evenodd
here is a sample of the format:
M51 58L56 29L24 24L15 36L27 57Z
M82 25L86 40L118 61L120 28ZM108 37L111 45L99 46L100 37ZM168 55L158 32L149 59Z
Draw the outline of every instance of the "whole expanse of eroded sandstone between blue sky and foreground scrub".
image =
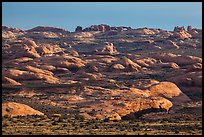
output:
M30 114L25 108L134 119L202 99L202 30L192 26L166 31L101 24L75 32L2 26L2 39L3 102L42 112L23 105L7 111L3 104L4 115Z

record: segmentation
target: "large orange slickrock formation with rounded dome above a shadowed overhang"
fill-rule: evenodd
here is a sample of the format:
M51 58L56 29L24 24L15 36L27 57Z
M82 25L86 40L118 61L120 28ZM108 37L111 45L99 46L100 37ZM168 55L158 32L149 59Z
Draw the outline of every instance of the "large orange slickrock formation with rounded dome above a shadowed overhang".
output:
M92 89L90 89L93 92ZM173 99L182 94L181 90L171 82L161 82L150 87L149 90L131 88L130 90L106 90L102 88L94 89L95 92L107 92L111 94L109 99L98 96L100 101L87 104L85 108L80 105L80 115L85 118L108 118L109 120L134 119L142 114L151 111L168 111L173 104L166 98ZM104 94L102 94L104 95ZM128 99L126 97L128 96ZM178 101L178 100L177 100ZM189 101L184 98L183 102ZM100 106L98 108L97 106ZM94 109L94 111L93 111ZM101 109L103 113L99 110Z

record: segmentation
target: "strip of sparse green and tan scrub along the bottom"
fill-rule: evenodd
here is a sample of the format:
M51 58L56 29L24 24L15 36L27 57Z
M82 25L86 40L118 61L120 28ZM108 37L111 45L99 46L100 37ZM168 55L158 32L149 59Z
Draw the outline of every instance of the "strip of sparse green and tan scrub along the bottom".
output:
M21 123L11 122L10 124L2 123L3 135L9 134L33 134L33 135L47 135L47 134L84 134L84 135L112 135L112 134L130 134L130 135L158 135L158 134L202 134L200 127L202 127L201 121L179 121L166 122L160 124L160 122L148 122L148 121L109 121L105 122L103 120L70 120L69 118L64 118L64 121L57 122L51 120L43 120L36 122L31 118L30 121L35 121L35 123L26 122L27 117L18 117L17 121L22 121ZM32 120L33 119L33 120ZM49 119L49 118L47 118ZM50 126L47 126L50 125ZM28 128L29 127L29 128ZM27 130L25 130L27 128ZM13 129L13 130L11 130ZM180 130L178 130L180 129ZM189 132L189 129L193 129ZM17 131L18 130L18 131ZM53 132L53 130L55 132ZM16 132L17 131L17 132ZM41 132L40 132L41 131Z

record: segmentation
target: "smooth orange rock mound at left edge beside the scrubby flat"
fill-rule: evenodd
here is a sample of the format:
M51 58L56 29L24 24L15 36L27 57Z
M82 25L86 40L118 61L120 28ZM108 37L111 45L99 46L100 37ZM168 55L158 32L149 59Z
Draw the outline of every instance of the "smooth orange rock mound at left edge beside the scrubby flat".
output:
M16 102L2 103L2 116L27 116L27 115L44 115L44 113L31 108L28 105Z

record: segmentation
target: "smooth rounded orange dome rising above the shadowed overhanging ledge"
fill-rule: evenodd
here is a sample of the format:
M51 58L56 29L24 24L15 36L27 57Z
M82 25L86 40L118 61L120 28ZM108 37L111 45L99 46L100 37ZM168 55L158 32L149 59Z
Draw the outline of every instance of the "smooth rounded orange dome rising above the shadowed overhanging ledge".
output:
M160 82L157 85L151 86L149 90L151 95L162 95L166 98L179 96L182 93L182 91L172 82Z

